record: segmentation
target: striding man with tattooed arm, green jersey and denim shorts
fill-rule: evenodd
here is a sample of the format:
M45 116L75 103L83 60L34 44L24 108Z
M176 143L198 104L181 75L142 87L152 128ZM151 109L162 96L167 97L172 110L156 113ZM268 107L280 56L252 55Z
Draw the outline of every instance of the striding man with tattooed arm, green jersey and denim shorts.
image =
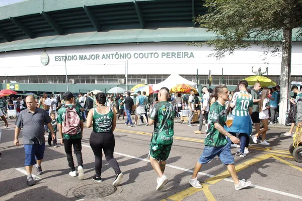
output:
M214 88L216 102L213 103L209 110L209 125L207 134L204 140L204 150L198 162L195 164L193 175L189 183L194 188L202 188L202 185L197 180L197 174L203 164L211 161L215 156L218 156L223 165L228 168L235 184L235 189L240 190L251 185L251 181L239 180L234 166L234 158L231 154L231 147L225 137L238 144L240 140L224 130L226 120L225 100L228 100L228 88L225 85L218 85Z

